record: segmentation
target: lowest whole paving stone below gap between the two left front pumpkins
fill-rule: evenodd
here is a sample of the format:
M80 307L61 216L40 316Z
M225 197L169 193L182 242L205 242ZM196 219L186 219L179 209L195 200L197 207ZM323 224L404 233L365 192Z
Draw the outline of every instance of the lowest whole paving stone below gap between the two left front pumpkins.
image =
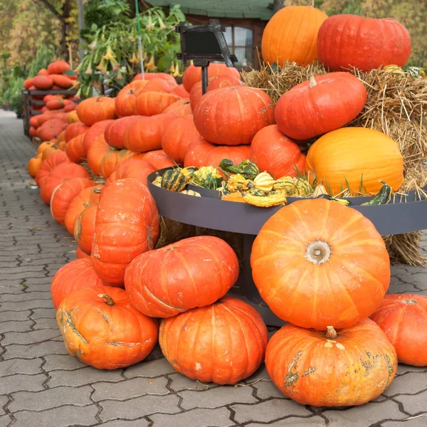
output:
M107 400L100 402L102 412L100 418L102 421L126 418L132 420L152 413L177 413L181 410L178 408L179 397L174 394L168 396L143 396L127 401ZM176 427L176 423L174 423Z

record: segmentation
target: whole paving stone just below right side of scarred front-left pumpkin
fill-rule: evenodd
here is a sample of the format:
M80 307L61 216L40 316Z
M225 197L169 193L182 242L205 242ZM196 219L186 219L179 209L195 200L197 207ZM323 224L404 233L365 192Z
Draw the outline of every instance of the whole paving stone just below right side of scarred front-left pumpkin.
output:
M164 395L169 394L167 386L167 378L147 379L136 377L120 383L99 382L93 384L95 393L92 396L94 401L102 401L107 399L126 400L133 397L145 396L146 394Z

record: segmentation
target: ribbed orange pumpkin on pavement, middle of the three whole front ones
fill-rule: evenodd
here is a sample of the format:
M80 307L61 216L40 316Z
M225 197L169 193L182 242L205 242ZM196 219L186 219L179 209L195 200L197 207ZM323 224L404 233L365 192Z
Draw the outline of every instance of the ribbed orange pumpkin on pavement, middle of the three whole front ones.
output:
M263 362L267 327L241 300L223 297L162 320L159 344L180 374L202 382L236 384Z

